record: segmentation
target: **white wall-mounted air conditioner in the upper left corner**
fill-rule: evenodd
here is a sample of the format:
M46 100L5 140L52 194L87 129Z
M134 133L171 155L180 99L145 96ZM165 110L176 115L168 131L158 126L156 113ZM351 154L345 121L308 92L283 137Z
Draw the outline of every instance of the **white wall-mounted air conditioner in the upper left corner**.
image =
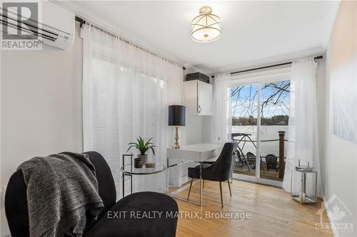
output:
M61 49L69 48L73 44L75 16L71 11L49 1L41 1L38 4L38 16L35 15L36 20L34 20L31 18L31 15L34 15L31 11L18 9L14 7L4 10L0 7L1 31L16 32L19 30L23 33L21 38L34 38L36 35L42 43ZM4 11L7 14L4 14ZM24 16L25 14L29 16Z

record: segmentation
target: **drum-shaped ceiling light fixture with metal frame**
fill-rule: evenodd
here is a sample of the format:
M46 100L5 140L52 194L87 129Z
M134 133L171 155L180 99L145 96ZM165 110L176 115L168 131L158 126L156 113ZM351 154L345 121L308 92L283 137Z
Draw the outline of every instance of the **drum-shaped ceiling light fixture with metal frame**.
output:
M210 6L202 6L192 22L192 39L199 43L216 41L221 36L221 19L212 14Z

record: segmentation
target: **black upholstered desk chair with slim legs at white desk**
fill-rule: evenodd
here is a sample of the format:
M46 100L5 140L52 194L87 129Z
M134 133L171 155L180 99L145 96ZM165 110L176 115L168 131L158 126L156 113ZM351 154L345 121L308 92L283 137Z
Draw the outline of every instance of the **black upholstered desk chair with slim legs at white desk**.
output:
M218 181L219 189L221 191L221 207L223 207L222 184L223 181L228 181L229 194L232 196L231 184L229 178L232 170L232 154L235 147L234 142L226 142L216 162L213 164L202 163L202 179L210 181ZM200 178L200 165L188 168L188 177L191 178L190 189L188 190L187 200L190 197L193 179Z

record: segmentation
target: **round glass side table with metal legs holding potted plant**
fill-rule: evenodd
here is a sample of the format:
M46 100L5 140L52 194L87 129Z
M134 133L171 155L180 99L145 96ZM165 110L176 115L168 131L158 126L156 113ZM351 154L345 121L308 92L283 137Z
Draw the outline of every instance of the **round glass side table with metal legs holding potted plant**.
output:
M123 197L125 196L125 177L129 176L130 177L130 192L131 194L133 193L133 175L146 175L146 174L158 174L161 172L164 172L166 167L164 165L155 163L155 167L150 167L146 168L145 165L142 168L135 168L134 164L125 164L120 168L120 171L122 174L122 179L123 179Z

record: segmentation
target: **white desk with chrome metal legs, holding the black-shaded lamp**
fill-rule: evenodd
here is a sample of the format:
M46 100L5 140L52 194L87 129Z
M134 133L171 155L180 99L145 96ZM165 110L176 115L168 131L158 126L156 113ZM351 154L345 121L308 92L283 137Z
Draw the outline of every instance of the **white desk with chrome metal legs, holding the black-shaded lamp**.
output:
M166 150L167 153L167 172L166 172L166 190L167 194L173 196L178 191L182 191L188 187L183 186L178 189L174 193L169 193L169 159L177 159L177 160L186 160L192 162L198 162L202 164L202 162L212 159L214 157L218 157L221 153L221 149L223 144L215 144L215 143L198 143L198 144L189 144L183 145L181 149L168 148ZM202 166L200 166L200 202L199 205L202 206ZM173 196L176 199L179 199L176 196ZM187 201L186 199L181 199L183 201ZM191 201L189 201L191 202ZM192 202L191 202L192 203ZM196 204L196 203L193 203Z

